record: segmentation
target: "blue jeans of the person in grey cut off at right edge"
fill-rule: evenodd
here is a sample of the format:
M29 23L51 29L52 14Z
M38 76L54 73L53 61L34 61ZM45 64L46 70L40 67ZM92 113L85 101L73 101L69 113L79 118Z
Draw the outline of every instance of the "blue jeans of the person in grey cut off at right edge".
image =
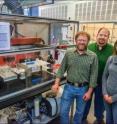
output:
M104 102L106 109L106 124L117 124L117 102L108 104Z

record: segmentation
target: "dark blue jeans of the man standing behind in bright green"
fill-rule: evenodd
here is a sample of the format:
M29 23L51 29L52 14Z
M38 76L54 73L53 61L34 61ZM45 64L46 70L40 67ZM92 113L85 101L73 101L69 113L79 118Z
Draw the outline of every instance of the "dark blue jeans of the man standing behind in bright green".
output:
M103 101L103 95L102 95L102 85L99 84L95 89L94 89L94 115L98 121L102 120L104 118L104 101ZM85 110L84 110L84 115L83 115L83 120L87 119L87 116L89 114L89 110L91 107L91 101L92 98L87 102Z

